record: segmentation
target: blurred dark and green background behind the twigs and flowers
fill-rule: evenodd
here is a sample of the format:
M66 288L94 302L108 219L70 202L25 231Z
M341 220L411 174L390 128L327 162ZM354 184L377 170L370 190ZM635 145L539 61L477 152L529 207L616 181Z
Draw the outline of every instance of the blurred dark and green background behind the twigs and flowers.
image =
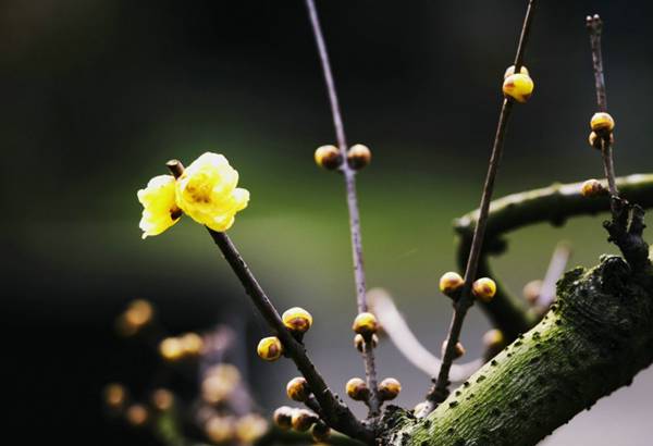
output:
M359 175L369 284L390 289L438 350L451 315L436 293L455 268L451 222L478 203L526 1L318 5L348 138L373 150ZM601 175L586 143L590 12L606 23L617 173L653 170L648 2L543 1L526 58L535 95L512 123L498 195ZM153 301L171 333L241 327L258 399L284 400L293 367L255 357L266 326L206 233L186 219L140 239L136 190L168 159L207 150L224 153L251 191L231 235L281 309L316 315L307 343L329 383L362 373L343 184L312 162L334 137L301 1L3 0L0 89L3 406L24 443L151 443L108 423L99 396L108 381L146 388L155 370L152 354L113 332L135 297ZM512 235L496 270L520 289L563 238L576 264L613 251L600 216L578 219ZM486 329L475 310L470 357ZM379 368L404 383L402 404L423 395L428 379L390 343ZM652 391L653 372L642 372L544 444L649 445Z

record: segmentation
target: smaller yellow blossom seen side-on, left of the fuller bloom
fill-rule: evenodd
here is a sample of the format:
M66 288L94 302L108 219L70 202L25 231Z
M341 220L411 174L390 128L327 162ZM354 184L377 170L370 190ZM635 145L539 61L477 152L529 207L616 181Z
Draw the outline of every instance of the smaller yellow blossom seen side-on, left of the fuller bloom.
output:
M138 227L143 230L143 238L159 235L180 221L182 212L175 203L174 184L173 176L159 175L138 190L138 201L143 205Z

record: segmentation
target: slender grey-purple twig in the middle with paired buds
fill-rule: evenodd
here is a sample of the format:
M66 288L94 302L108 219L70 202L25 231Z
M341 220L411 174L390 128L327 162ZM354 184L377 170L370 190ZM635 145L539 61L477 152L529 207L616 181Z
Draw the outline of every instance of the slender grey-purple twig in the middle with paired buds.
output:
M320 61L322 63L322 72L324 74L324 82L326 83L326 90L329 92L329 101L331 103L331 113L333 115L333 126L335 127L335 137L341 151L342 159L345 160L341 165L341 171L345 178L345 186L347 189L347 207L349 209L349 230L352 233L352 256L354 259L354 280L356 282L356 301L359 313L367 311L367 303L365 299L366 295L366 280L365 280L365 267L362 260L362 237L360 231L360 214L358 211L358 199L356 196L356 171L349 166L347 160L347 139L345 137L345 128L343 125L342 113L340 110L340 103L337 100L337 92L335 90L335 82L333 80L333 73L331 71L331 63L329 61L329 52L326 51L326 45L324 44L324 36L322 35L322 28L320 26L320 20L318 17L318 11L313 0L306 0L306 7L308 9L308 15L310 18L312 32L318 46L318 53L320 54ZM364 349L365 359L365 374L367 379L368 387L370 388L370 417L375 417L380 413L381 400L379 398L379 392L377 386L377 368L374 364L374 351L370 339L366 340Z

